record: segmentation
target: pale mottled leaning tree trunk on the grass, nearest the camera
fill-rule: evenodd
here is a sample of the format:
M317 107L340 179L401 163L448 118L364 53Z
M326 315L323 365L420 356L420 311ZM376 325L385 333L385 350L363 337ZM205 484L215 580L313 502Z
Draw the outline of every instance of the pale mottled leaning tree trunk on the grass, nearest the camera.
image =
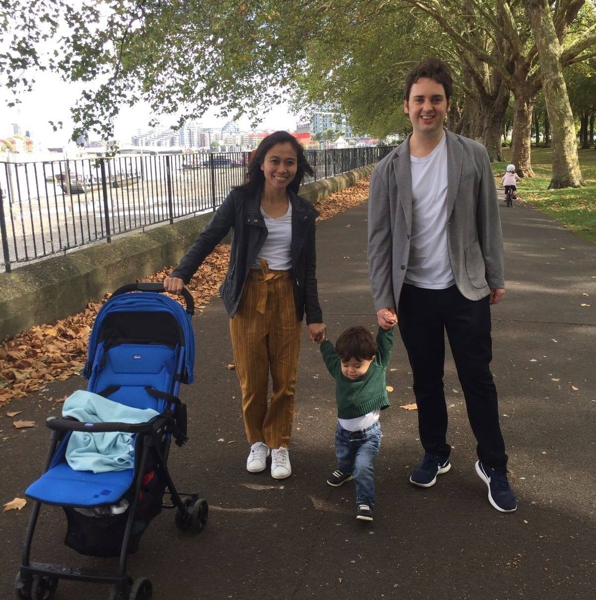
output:
M562 47L547 0L526 0L526 14L538 49L546 109L553 128L550 188L580 187L576 130L561 65Z

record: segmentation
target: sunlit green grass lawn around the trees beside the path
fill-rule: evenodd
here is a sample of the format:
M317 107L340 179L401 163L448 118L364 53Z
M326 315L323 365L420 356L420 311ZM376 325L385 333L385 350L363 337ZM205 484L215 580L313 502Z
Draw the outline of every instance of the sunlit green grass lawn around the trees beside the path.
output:
M504 149L505 160L511 150ZM596 243L596 150L579 150L583 188L548 190L552 173L550 148L532 148L532 169L535 178L523 178L517 184L517 195L556 220L580 238ZM505 172L507 163L493 163L493 172ZM498 179L501 185L501 179Z

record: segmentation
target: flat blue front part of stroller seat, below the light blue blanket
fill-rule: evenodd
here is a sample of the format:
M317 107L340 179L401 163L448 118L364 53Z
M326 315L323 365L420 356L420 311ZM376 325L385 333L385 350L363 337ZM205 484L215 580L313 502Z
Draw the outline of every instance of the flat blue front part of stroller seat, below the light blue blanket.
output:
M57 464L27 488L26 494L46 504L99 506L121 499L133 483L134 469L94 473Z

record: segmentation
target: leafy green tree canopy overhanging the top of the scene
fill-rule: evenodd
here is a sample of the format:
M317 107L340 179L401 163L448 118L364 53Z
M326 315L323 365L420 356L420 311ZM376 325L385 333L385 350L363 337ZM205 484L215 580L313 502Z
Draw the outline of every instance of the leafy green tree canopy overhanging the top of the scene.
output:
M111 139L119 109L140 100L155 124L200 118L214 104L256 123L285 99L337 107L355 133L385 137L409 130L403 75L424 56L453 65L460 98L478 94L470 73L511 77L508 57L524 59L533 45L523 11L513 0L3 0L0 85L14 104L31 89L31 69L84 83L73 139ZM580 12L570 44L593 16Z

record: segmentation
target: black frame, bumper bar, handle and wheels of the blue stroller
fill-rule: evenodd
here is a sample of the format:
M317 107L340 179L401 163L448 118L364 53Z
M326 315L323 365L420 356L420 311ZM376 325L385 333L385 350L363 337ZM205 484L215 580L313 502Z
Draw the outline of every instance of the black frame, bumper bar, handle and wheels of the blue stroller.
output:
M127 286L122 286L116 290L112 297L132 291L163 292L164 289L163 284L128 284ZM186 311L191 315L194 313L193 298L187 290L183 291L183 295L187 307ZM17 574L17 598L22 600L50 600L58 586L58 580L67 579L90 583L111 584L113 587L109 596L110 600L151 599L151 582L146 578L139 578L133 581L127 574L131 531L139 500L139 492L145 473L145 466L148 463L149 451L154 453L157 460L155 470L163 477L163 480L166 483L164 495L168 494L170 496L169 503L164 503L162 498L161 508L176 509L175 523L176 527L179 529L190 530L193 533L200 533L204 529L208 520L208 504L206 500L199 499L199 494L197 493L178 492L172 481L169 470L167 469L167 458L169 456L172 437L175 439L178 446L182 446L188 439L186 436L185 411L182 410L178 412L176 410L176 407L184 405L182 405L180 400L172 394L157 391L150 391L150 393L168 401L168 404L167 409L164 412L144 423L83 423L72 417L58 418L50 416L47 418L46 426L52 430L52 433L43 473L46 473L50 469L53 457L58 450L59 443L62 442L65 434L71 431L86 431L88 433L115 431L137 434L135 446L137 449L140 448L141 452L140 458L138 458L139 452L135 453L134 479L129 488L134 490L134 495L128 506L128 517L124 536L122 538L118 572L70 568L50 563L31 562L31 544L37 520L40 515L41 505L43 503L51 504L50 502L35 500L31 517L29 518L25 545L23 547L22 563L20 565L19 573ZM180 422L182 420L184 422Z

